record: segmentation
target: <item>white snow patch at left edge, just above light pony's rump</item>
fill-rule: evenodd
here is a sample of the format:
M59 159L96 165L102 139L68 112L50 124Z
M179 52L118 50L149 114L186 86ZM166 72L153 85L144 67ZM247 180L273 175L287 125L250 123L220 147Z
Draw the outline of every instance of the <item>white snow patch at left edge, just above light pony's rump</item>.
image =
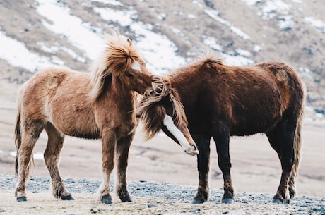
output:
M51 59L33 53L25 47L23 42L7 37L3 31L0 31L0 50L1 59L4 59L12 66L25 68L31 72L36 72L49 66L55 66L55 63L52 63Z

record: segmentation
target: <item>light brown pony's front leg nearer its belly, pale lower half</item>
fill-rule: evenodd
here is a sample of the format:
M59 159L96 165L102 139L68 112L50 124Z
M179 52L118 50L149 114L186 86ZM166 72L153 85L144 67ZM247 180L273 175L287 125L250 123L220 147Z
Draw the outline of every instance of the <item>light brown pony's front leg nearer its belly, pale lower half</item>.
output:
M100 201L112 204L110 195L110 176L114 168L114 152L117 140L113 131L102 133L102 172L103 180L100 185Z

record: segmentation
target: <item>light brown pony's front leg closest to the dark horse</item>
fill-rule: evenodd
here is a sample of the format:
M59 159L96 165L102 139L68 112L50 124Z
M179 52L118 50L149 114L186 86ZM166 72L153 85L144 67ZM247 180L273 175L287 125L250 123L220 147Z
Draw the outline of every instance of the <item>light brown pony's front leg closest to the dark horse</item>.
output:
M122 137L117 141L117 185L115 187L115 190L122 202L132 202L132 199L127 190L126 168L128 165L129 148L133 138L134 133L131 133L130 135Z

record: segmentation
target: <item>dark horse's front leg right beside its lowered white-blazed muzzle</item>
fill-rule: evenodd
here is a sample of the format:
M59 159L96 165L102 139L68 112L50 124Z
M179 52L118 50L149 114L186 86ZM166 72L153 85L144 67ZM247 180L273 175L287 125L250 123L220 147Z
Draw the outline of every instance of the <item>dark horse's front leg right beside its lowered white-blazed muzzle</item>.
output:
M192 203L201 204L206 202L209 192L208 172L210 163L210 137L193 136L193 140L196 142L200 153L197 155L199 187Z

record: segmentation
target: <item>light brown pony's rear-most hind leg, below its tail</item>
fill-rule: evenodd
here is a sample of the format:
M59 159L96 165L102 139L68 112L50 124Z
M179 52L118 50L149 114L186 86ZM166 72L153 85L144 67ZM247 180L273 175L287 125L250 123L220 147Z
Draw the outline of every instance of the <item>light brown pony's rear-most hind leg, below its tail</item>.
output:
M20 122L18 122L20 124ZM43 123L40 120L22 121L20 130L21 142L17 145L16 173L18 175L15 195L18 202L27 201L25 185L30 173L30 162L35 143L43 130ZM20 126L20 125L18 125Z

